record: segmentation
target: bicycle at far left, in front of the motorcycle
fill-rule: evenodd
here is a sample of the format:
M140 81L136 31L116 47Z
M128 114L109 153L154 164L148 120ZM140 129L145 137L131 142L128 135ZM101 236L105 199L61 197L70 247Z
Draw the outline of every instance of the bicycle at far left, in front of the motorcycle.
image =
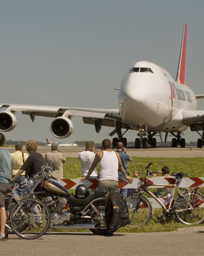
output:
M15 187L21 181L10 181L14 186L6 194L6 228L24 239L36 239L46 233L51 223L47 206L36 198L19 200L14 196ZM22 232L23 231L23 232Z

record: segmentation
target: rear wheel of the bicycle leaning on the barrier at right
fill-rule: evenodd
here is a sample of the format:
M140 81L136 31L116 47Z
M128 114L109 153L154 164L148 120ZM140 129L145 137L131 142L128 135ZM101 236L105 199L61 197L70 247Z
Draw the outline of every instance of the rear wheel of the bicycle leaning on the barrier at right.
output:
M194 190L188 191L192 210L176 212L177 220L183 224L202 224L204 222L204 196ZM176 200L175 200L176 201Z

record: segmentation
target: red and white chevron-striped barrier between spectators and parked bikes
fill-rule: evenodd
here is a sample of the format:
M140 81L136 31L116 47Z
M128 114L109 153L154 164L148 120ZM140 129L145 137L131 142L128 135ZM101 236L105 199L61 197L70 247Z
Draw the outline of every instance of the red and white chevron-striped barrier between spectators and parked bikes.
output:
M129 184L127 180L119 178L119 185L118 188L140 188L142 187L142 180L145 179L133 179L132 184ZM150 178L148 179L148 188L171 188L171 185L175 184L175 178ZM80 183L80 179L62 179L57 181L60 185L65 187L66 189L75 189ZM98 180L97 179L89 179L83 180L83 184L87 185L90 189L98 187ZM157 186L156 184L163 184L163 186ZM190 178L183 178L177 181L178 187L204 187L204 177L190 177ZM160 204L154 198L148 198L153 208L161 208ZM164 203L166 198L159 198L159 200ZM199 207L204 207L204 203L201 203Z

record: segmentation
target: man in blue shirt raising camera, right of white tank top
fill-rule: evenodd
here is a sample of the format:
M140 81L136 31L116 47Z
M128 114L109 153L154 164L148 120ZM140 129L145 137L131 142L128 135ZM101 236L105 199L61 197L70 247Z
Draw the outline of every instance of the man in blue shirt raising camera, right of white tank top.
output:
M128 175L127 161L131 162L132 158L127 154L126 147L124 147L124 144L122 142L117 142L116 149L116 152L120 156L123 168L125 169L125 174ZM123 174L120 169L118 169L118 177L123 178ZM117 191L120 192L123 197L127 196L127 188L118 188Z

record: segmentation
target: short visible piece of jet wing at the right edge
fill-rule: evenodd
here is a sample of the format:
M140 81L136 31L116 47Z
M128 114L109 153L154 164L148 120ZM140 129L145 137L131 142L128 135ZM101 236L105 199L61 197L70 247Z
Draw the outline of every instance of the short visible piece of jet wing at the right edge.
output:
M191 131L203 130L204 110L185 110L182 112L182 123L189 125Z

